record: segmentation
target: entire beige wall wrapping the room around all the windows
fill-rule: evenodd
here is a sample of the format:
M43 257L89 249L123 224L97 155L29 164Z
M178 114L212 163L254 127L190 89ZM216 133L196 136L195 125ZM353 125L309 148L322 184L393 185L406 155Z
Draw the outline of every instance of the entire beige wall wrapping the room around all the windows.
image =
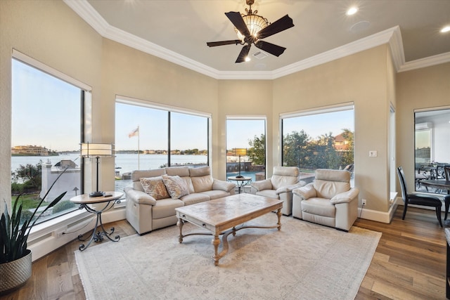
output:
M62 1L8 0L0 1L0 41L0 199L11 195L12 48L92 87L96 141L114 141L116 95L210 113L213 175L222 179L226 115L266 115L271 176L280 164L281 113L353 102L355 185L367 208L382 213L389 209L390 103L397 115L397 165L404 165L410 185L413 109L450 104L450 64L395 75L387 45L271 81L216 80L103 39ZM378 157L368 157L369 150ZM102 167L113 174L112 160ZM113 185L112 176L102 179L105 188Z

